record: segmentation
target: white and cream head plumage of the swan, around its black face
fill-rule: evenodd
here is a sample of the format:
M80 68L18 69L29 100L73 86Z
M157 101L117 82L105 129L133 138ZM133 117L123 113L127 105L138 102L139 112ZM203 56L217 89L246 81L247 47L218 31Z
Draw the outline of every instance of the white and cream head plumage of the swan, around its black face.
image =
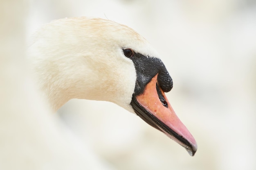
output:
M106 100L133 112L133 62L122 49L157 57L131 28L99 18L55 20L33 35L29 47L35 76L54 111L72 98Z

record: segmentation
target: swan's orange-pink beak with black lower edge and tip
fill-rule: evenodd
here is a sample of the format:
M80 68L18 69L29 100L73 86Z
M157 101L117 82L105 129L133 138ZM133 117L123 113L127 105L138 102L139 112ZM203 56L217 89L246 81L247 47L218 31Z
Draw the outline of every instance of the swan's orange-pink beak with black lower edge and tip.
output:
M139 117L151 126L186 148L193 156L197 150L195 139L177 117L163 90L157 83L157 75L146 85L143 94L133 96L132 107Z

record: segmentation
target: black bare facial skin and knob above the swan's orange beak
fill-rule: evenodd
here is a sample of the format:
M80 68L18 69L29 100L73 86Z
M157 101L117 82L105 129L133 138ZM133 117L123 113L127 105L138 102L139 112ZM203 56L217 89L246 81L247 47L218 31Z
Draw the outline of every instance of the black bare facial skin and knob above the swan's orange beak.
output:
M160 59L144 56L136 52L130 59L134 63L137 74L137 80L134 90L135 96L144 92L146 85L156 74L158 74L158 85L164 92L169 92L173 88L173 80L169 75L168 71L166 70L164 63Z

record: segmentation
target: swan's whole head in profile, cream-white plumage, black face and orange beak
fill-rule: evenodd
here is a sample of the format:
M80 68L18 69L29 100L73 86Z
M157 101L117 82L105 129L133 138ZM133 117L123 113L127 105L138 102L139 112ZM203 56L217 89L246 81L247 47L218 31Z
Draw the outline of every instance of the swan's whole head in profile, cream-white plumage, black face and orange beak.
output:
M54 20L32 35L28 56L52 111L72 98L113 102L195 154L195 139L165 95L172 78L132 28L100 18Z

